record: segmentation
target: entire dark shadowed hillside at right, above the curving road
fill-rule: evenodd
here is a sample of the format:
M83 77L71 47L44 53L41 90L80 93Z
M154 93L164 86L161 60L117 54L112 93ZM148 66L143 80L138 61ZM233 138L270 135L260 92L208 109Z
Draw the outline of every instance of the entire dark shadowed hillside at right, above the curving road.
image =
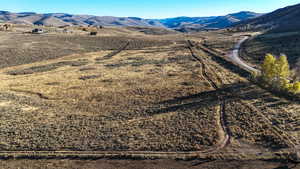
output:
M254 65L260 65L266 53L276 56L285 54L295 74L300 78L299 19L300 4L297 4L236 25L236 28L264 32L242 45L241 56L243 59Z

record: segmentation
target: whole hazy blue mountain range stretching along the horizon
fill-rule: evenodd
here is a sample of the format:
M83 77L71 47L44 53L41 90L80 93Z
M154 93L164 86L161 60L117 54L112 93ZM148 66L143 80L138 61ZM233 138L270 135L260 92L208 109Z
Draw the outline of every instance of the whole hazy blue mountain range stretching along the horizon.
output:
M243 11L225 16L212 17L176 17L167 19L143 19L138 17L113 17L93 15L72 15L66 13L38 14L34 12L12 13L0 11L0 21L14 24L65 26L65 25L94 25L94 26L141 26L164 27L180 31L220 29L234 23L256 18L262 14Z

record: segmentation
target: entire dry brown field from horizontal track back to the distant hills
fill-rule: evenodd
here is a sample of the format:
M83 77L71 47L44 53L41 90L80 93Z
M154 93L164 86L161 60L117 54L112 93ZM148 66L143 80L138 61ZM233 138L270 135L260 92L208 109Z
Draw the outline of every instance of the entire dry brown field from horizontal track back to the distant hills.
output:
M239 34L0 36L2 152L223 160L278 158L272 153L299 146L299 102L259 88L227 60Z

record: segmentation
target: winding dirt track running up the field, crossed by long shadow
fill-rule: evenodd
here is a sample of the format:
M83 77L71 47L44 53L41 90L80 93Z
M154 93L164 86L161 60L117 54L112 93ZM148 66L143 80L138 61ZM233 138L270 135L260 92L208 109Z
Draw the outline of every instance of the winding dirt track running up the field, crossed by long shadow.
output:
M194 49L194 45L193 43L188 40L187 41L187 45L188 45L188 49L190 50L192 56L194 59L196 59L198 62L200 62L201 67L202 67L202 75L203 77L209 82L209 84L215 89L218 90L220 89L220 87L218 86L218 84L209 76L209 74L207 73L207 71L211 71L209 70L209 67L204 63L203 59L199 56L196 55L195 49ZM218 78L221 79L221 78ZM222 84L222 81L220 81L220 83ZM219 118L220 118L220 126L222 128L222 132L223 132L223 140L220 141L219 145L217 146L216 150L225 148L229 143L230 143L230 129L227 127L227 123L226 123L226 101L225 99L219 98L219 101L221 102L219 105Z

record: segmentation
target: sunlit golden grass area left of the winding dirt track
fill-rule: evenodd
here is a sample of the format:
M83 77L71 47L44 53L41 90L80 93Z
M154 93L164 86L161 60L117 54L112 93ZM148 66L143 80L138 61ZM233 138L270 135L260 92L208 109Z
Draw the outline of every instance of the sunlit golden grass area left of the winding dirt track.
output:
M103 51L3 69L1 78L6 80L1 91L12 92L3 97L14 102L9 110L18 109L2 116L2 127L14 131L1 138L7 143L3 148L191 151L216 144L214 106L160 103L211 89L199 77L189 51L170 48L156 55L128 50L96 61L110 52ZM59 64L74 63L79 57L87 65ZM59 67L27 75L5 74L49 65ZM86 66L93 69L80 71ZM26 100L31 100L28 106L38 104L37 108L19 108ZM18 120L24 126L9 126Z

